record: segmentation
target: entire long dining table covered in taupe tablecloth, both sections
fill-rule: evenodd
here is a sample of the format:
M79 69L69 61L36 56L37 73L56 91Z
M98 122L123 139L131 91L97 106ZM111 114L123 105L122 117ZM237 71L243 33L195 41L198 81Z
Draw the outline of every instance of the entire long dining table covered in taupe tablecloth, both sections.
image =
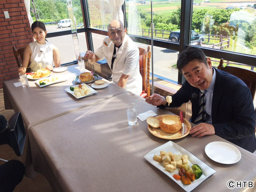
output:
M136 125L129 126L126 104L136 104L137 114L151 110L157 115L174 115L172 112L152 106L112 82L77 99L65 89L78 85L74 81L80 74L78 65L51 76L56 74L66 81L39 87L29 80L26 88L14 86L18 79L3 84L5 108L20 111L25 124L25 165L43 174L58 192L185 191L144 158L170 140L152 134L146 120L137 118ZM231 190L229 180L253 184L232 191L256 191L256 155L251 152L216 135L197 138L186 134L171 141L214 170L193 191L226 192ZM206 154L206 146L213 142L236 147L241 159L230 164L214 161Z

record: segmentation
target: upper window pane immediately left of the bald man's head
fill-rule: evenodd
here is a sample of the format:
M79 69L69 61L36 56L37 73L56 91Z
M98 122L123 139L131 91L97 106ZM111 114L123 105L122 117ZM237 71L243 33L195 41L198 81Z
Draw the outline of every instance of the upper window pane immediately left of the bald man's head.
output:
M112 6L107 0L87 0L91 28L107 30L112 20Z

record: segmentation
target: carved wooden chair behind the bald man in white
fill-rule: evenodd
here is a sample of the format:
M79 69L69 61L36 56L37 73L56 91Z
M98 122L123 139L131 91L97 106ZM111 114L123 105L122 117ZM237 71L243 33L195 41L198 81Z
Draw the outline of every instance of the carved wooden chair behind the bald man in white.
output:
M150 46L148 46L148 50L146 51L143 48L140 48L140 74L142 76L142 93L141 97L146 98L150 96L150 85L149 85L149 73L150 73Z

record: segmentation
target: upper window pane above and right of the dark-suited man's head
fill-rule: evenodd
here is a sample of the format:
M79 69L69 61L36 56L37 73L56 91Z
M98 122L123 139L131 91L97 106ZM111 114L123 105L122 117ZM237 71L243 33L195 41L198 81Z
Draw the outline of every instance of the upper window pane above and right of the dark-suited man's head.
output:
M200 33L191 44L256 54L255 2L193 3L192 30ZM203 36L203 37L202 37Z

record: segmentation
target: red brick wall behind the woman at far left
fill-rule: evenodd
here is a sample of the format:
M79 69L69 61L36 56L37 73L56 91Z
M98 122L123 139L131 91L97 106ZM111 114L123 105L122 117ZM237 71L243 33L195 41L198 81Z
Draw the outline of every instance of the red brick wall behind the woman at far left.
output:
M10 18L5 18L4 11ZM4 81L19 76L12 46L25 47L33 41L24 0L0 0L0 88Z

